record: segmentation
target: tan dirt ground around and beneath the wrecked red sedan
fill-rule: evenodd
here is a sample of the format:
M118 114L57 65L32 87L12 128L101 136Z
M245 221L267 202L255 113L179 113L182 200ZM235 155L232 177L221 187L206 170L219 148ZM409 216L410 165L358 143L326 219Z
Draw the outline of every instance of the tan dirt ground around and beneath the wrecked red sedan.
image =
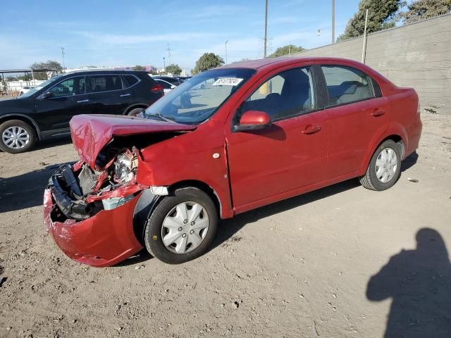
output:
M451 115L422 119L392 189L350 180L239 215L183 265L71 261L41 206L70 141L0 153L0 337L451 337Z

